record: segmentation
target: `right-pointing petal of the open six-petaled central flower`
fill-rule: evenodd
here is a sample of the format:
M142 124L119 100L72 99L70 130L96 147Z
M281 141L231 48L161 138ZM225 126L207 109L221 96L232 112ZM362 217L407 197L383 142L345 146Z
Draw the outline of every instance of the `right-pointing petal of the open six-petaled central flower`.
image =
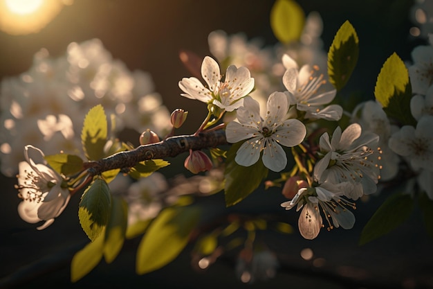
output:
M304 123L297 119L288 119L277 127L271 137L283 146L292 147L302 143L305 136L306 128Z

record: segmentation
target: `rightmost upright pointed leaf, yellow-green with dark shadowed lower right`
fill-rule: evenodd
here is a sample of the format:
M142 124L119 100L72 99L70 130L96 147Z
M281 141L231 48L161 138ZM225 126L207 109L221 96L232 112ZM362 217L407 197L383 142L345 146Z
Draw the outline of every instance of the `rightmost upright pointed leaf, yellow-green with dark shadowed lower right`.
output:
M403 60L394 52L385 61L374 87L374 96L383 106L383 110L390 118L394 118L402 125L416 125L410 112L412 86L409 72Z

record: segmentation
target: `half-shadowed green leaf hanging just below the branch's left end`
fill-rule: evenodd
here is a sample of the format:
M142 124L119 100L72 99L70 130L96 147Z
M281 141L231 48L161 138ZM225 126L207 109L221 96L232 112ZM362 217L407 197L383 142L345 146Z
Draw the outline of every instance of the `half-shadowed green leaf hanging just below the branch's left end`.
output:
M97 178L84 191L78 208L80 225L93 241L102 233L109 221L111 195L107 182Z

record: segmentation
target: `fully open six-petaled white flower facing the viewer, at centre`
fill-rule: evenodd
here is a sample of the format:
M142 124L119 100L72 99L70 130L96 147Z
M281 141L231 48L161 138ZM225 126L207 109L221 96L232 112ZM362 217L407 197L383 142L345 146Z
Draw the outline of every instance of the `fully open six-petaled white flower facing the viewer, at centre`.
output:
M251 166L263 152L266 168L279 172L287 165L282 146L299 145L305 138L306 128L297 119L286 118L288 101L284 93L271 94L266 106L266 117L262 119L259 103L250 96L244 98L243 107L237 110L237 121L228 123L225 135L229 143L246 139L234 158L237 164Z

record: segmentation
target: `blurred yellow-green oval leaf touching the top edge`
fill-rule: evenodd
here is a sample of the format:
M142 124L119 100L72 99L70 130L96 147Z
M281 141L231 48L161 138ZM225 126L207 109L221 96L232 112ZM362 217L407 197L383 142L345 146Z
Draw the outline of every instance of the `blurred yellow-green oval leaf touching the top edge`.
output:
M301 6L292 0L277 0L270 10L270 28L279 42L284 44L300 39L305 15Z

